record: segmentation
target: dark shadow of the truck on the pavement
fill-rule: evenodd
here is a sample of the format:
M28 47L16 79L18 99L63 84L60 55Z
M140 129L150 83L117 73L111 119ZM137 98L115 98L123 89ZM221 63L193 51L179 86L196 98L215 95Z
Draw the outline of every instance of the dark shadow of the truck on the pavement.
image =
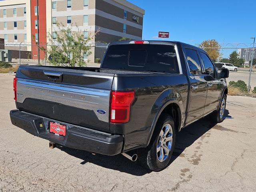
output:
M228 116L228 111L225 111L225 116ZM182 153L186 148L191 146L198 138L206 134L208 130L213 128L216 124L211 124L208 117L194 122L188 127L184 128L176 135L175 149L172 155L171 162L174 162L178 157L182 158ZM83 150L76 150L64 146L57 146L60 150L82 160L81 165L92 163L104 168L118 170L135 176L143 176L150 173L141 167L138 162L132 162L121 154L116 156L106 156L101 154L92 154ZM139 154L138 154L139 155Z

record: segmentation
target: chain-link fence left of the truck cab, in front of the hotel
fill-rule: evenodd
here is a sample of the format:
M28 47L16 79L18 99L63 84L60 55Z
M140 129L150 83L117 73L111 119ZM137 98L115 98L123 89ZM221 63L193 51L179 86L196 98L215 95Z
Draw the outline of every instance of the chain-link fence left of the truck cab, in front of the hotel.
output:
M59 47L61 50L62 47ZM2 43L0 44L0 61L9 62L13 65L51 66L53 65L51 61L55 59L50 54L51 49L51 45L37 45L24 42ZM87 52L81 53L80 59L84 61L83 66L99 67L106 49L107 46L89 46ZM68 55L67 52L63 51L63 57L66 57L68 62L72 55ZM65 65L68 66L69 64L66 63Z

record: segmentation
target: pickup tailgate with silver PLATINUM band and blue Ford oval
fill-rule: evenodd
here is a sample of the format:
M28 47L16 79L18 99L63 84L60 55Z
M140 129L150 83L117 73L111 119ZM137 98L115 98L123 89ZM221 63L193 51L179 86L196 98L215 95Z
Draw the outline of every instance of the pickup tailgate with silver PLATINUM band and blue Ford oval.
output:
M19 110L109 132L112 74L22 66L16 77Z

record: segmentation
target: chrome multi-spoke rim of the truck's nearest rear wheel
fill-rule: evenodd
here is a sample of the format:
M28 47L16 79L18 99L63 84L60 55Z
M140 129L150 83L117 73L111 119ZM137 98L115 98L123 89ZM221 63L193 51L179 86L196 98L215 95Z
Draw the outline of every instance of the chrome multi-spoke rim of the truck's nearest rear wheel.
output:
M172 126L165 124L158 137L156 146L156 155L160 162L164 162L170 153L172 148Z

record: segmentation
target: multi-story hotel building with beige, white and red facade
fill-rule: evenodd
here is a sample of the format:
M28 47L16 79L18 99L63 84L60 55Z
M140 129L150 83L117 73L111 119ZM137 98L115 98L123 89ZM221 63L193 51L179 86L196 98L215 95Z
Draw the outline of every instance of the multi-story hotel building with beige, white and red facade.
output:
M22 48L38 58L36 43L49 43L47 34L55 38L56 23L72 30L78 26L84 38L99 31L92 39L97 45L122 37L141 40L144 14L145 10L126 0L38 0L38 9L37 0L4 0L0 1L0 38L10 44L32 44ZM43 53L40 58L44 58Z

